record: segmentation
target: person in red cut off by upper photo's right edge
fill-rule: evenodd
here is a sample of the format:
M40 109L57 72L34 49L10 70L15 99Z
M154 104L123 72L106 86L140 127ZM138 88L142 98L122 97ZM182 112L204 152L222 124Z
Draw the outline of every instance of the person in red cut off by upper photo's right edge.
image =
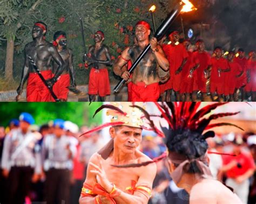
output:
M255 51L249 53L247 63L247 85L245 87L248 96L251 95L252 101L256 101L256 58Z

